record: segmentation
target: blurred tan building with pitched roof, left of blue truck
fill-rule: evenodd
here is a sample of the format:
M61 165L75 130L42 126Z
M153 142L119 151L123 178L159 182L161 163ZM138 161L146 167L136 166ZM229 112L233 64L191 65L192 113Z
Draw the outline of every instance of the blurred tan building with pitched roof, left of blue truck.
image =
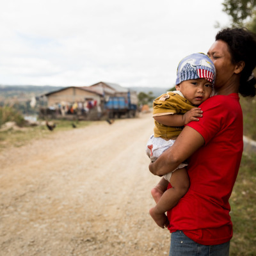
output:
M129 96L128 96L129 95ZM46 93L42 99L47 101L47 107L42 108L41 115L50 113L52 117L67 118L74 116L81 119L99 119L102 115L108 115L106 102L113 97L122 97L124 100L138 104L136 92L115 83L99 82L91 86L70 86L61 90ZM45 110L47 109L47 110Z

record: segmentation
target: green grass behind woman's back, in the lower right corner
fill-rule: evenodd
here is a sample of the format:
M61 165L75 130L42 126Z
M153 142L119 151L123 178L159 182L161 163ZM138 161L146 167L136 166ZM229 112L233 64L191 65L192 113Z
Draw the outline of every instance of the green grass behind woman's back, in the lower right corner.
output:
M234 236L230 256L256 255L256 154L243 154L232 195L230 216Z

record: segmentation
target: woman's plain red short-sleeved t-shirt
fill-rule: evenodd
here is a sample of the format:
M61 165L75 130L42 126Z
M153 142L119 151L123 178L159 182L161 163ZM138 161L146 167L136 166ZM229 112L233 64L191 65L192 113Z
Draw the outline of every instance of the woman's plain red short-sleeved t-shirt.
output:
M168 229L182 230L196 243L221 244L232 238L228 199L243 153L243 113L237 93L213 96L200 108L203 117L188 126L204 137L205 145L189 159L190 188L167 212Z

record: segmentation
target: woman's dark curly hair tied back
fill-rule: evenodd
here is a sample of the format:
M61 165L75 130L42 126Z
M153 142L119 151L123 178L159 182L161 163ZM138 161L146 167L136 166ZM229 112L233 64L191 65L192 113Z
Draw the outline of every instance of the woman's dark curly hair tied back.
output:
M244 97L254 97L256 78L252 76L252 72L256 67L256 35L246 28L225 28L217 33L216 40L227 43L232 63L244 61L239 93Z

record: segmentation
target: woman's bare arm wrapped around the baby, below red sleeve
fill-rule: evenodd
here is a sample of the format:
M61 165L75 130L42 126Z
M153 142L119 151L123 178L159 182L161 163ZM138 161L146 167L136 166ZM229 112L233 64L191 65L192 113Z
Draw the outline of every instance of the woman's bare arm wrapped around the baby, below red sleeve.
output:
M175 170L180 163L188 159L198 148L204 145L204 137L195 129L186 126L172 147L164 151L149 170L154 175L163 176Z

